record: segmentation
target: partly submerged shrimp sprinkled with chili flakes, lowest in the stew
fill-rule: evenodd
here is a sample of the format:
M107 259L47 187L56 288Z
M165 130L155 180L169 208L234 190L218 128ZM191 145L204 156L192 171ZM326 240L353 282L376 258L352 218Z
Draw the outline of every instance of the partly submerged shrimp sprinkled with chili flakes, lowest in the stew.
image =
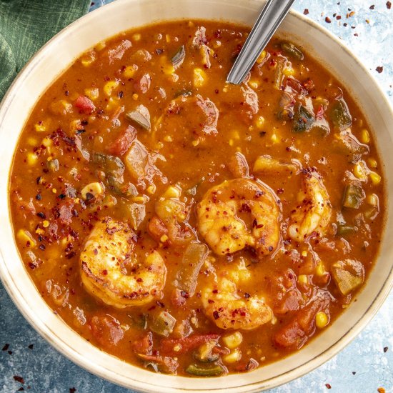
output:
M204 313L217 327L252 330L272 319L272 309L264 297L239 294L236 274L228 277L224 272L222 277L213 276L214 282L202 289L202 304Z

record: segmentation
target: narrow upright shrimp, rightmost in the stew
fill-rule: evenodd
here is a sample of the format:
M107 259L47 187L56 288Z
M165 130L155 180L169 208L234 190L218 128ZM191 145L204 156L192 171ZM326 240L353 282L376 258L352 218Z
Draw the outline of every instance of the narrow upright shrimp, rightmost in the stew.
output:
M303 189L299 192L302 201L290 217L288 234L303 242L313 233L323 235L332 215L329 194L317 172L304 172Z

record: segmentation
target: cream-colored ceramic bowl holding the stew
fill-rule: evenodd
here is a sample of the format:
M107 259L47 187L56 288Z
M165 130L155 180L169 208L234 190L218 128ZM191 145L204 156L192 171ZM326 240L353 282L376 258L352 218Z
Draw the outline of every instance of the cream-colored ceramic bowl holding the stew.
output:
M29 323L66 357L111 382L146 392L257 392L300 377L348 344L377 312L393 283L393 112L367 69L322 27L291 12L281 34L300 42L347 86L377 136L384 162L387 229L367 285L351 307L301 351L247 374L191 379L153 374L101 352L79 337L41 299L21 262L9 214L9 169L19 133L46 88L81 52L114 34L166 19L226 19L252 25L257 0L118 0L67 27L44 46L14 81L0 108L0 277ZM390 239L390 240L389 240Z

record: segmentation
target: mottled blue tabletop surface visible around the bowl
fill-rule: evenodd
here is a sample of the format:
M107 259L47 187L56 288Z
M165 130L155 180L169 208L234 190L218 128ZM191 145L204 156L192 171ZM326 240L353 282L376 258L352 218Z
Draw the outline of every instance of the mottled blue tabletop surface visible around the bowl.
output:
M109 2L95 1L92 8ZM385 3L346 0L325 5L327 1L323 0L297 0L294 8L300 12L308 9L311 19L341 37L377 77L393 104L393 9L387 9ZM369 9L372 4L374 9ZM347 18L351 11L355 11L354 15ZM335 19L334 13L342 19ZM326 17L331 23L325 21ZM376 71L378 66L383 66L381 73ZM393 392L392 315L390 294L362 334L336 357L314 372L269 392L377 392L379 387ZM5 344L9 347L4 348ZM1 348L1 392L16 392L21 387L31 393L129 392L84 371L56 352L27 324L0 284ZM24 383L16 381L15 375L23 377Z

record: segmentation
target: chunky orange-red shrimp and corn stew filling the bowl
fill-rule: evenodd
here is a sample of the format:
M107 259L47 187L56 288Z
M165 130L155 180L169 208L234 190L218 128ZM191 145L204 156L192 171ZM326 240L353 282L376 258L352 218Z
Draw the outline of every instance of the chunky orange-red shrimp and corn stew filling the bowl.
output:
M86 51L39 99L10 177L37 289L126 362L249 372L334 324L377 257L382 165L332 74L275 37L176 21Z

